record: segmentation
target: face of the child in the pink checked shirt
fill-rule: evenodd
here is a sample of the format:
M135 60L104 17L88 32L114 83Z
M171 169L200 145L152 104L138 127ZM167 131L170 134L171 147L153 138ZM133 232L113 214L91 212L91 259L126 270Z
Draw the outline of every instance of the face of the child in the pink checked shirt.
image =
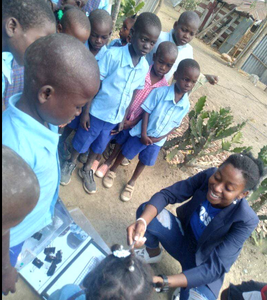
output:
M154 53L153 55L153 70L158 77L163 77L167 74L175 63L176 56L166 53Z

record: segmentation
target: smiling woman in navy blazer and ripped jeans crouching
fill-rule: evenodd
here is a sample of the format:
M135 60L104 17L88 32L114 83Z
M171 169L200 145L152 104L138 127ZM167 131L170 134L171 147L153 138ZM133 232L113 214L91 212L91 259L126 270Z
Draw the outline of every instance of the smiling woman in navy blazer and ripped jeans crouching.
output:
M265 171L251 153L233 154L218 169L179 181L138 208L128 242L135 239L140 247L139 238L147 238L146 247L136 250L147 263L161 260L159 243L181 263L182 273L153 280L161 289L179 288L172 299L217 299L225 273L259 222L245 197ZM165 209L169 204L182 204L177 216Z

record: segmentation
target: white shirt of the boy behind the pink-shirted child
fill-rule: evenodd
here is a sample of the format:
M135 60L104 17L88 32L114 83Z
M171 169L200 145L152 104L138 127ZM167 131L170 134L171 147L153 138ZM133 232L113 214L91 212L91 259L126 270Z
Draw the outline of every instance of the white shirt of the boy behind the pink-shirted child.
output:
M146 55L146 59L147 59L149 65L153 64L153 54L156 53L159 44L162 42L166 42L166 41L172 42L175 44L175 42L173 40L173 29L170 32L162 31L160 33L157 43L153 47L152 51ZM177 70L177 67L178 67L180 61L182 61L183 59L186 59L186 58L193 58L193 48L191 45L185 44L182 46L177 46L177 50L178 50L178 56L176 58L176 61L173 64L171 70L165 75L165 78L167 81L169 81L171 79L172 75Z

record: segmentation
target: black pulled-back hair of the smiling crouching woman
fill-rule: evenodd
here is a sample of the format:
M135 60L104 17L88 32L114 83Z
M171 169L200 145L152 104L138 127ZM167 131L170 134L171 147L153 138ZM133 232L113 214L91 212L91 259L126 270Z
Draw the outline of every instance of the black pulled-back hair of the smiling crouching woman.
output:
M246 182L246 191L255 190L261 177L266 173L263 162L260 159L254 158L251 152L232 154L220 167L227 164L231 164L234 168L242 172Z

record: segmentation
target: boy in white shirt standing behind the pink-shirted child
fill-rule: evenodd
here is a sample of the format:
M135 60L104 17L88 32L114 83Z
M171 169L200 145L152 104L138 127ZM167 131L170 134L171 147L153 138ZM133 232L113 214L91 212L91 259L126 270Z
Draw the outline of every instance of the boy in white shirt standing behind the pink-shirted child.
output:
M151 65L153 53L156 52L157 47L161 42L170 41L177 46L178 57L170 72L165 76L167 81L172 78L174 72L177 70L180 61L186 58L193 58L193 48L189 43L196 35L199 26L200 19L197 13L195 13L194 11L183 12L180 15L178 21L174 23L173 29L170 32L161 32L154 50L146 56L149 65ZM205 75L205 78L211 84L215 84L218 82L218 77L214 75Z

